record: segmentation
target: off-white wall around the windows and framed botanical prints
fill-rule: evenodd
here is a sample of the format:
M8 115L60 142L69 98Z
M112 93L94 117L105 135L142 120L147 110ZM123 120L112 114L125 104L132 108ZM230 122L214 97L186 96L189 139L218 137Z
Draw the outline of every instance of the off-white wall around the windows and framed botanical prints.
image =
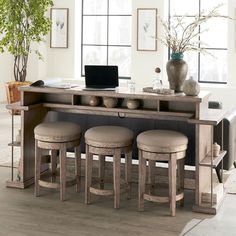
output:
M76 2L75 2L76 1ZM81 23L80 17L75 16L75 4L80 4L79 0L54 0L54 7L69 8L69 47L67 49L50 48L50 37L47 37L46 43L42 43L39 47L40 51L45 57L45 61L38 61L36 56L30 56L30 63L28 66L28 79L34 81L39 78L45 77L74 77L74 71L80 66L80 57L75 64L76 51L78 52L80 42L75 44L74 36L76 30L80 30ZM167 84L165 64L167 61L166 48L159 42L157 45L157 51L145 52L137 51L137 8L157 8L158 14L161 18L164 17L164 13L167 13L166 0L135 0L133 3L133 21L132 21L132 80L137 85L147 86L152 84L152 80L155 77L154 69L158 66L162 69L162 75ZM236 16L236 1L229 0L229 15L231 17ZM75 23L76 17L76 23ZM201 86L202 90L209 90L212 92L212 100L220 100L223 102L225 108L236 106L236 23L235 21L229 21L228 32L228 84L227 85L209 85ZM161 25L158 23L158 34L161 33ZM80 37L79 37L80 38ZM80 40L80 39L79 39ZM79 65L78 65L79 64ZM12 74L12 58L11 56L4 54L0 55L0 101L5 100L5 88L4 81L13 79Z

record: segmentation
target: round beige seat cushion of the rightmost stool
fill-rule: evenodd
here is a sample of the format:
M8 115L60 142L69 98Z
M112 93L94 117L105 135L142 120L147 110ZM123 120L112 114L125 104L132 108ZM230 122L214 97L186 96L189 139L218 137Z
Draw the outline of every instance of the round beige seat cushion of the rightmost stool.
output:
M188 138L171 130L148 130L137 137L138 148L148 152L172 153L187 149Z

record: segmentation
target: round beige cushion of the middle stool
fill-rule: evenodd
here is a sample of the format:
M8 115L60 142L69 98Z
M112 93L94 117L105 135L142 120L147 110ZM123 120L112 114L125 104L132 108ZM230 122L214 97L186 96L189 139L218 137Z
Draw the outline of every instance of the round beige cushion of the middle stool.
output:
M134 133L121 126L96 126L88 129L84 137L88 145L114 148L131 145Z

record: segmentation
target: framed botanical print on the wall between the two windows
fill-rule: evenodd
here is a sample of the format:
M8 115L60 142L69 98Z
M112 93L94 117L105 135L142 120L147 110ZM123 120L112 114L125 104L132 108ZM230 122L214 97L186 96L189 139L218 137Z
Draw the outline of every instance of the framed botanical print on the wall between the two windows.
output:
M157 50L157 8L137 8L137 51Z

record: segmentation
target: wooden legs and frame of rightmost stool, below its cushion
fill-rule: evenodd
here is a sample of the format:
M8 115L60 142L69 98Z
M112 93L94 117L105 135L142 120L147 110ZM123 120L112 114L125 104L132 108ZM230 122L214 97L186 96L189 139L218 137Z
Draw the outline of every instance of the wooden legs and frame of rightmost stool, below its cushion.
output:
M158 144L157 144L158 145ZM144 211L144 200L152 202L170 203L170 214L175 216L176 211L176 201L180 201L180 205L183 205L184 199L184 157L185 151L183 151L182 146L179 148L179 153L162 153L153 152L152 148L145 146L145 151L142 150L142 145L138 144L139 148L139 211ZM169 181L169 196L155 196L155 162L156 161L168 161L168 181ZM150 185L149 193L146 193L146 161L149 165L148 182ZM177 165L178 161L178 165ZM178 168L177 168L178 167ZM176 180L176 169L179 177L179 185L177 185ZM176 194L178 190L178 194Z

